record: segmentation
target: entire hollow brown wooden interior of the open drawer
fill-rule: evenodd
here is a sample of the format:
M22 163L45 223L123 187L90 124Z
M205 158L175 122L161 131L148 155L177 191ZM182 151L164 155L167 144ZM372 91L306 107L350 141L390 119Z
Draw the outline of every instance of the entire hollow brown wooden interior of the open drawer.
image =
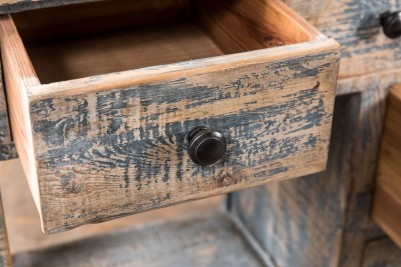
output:
M42 84L312 41L269 0L114 0L13 15Z

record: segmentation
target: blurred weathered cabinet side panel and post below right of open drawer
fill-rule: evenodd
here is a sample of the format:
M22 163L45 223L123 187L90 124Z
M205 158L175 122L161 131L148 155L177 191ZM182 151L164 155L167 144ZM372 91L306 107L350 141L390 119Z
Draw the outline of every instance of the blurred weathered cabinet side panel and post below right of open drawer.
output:
M336 109L326 172L234 194L234 212L278 266L360 266L367 242L384 236L370 218L387 95L380 84L337 98L350 104Z

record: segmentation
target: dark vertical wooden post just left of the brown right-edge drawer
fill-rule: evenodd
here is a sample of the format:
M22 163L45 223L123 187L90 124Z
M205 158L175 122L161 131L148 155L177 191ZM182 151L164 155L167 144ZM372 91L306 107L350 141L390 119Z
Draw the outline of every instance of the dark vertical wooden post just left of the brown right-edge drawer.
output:
M340 266L361 264L366 242L383 236L370 216L389 89L378 84L370 84L360 96Z

